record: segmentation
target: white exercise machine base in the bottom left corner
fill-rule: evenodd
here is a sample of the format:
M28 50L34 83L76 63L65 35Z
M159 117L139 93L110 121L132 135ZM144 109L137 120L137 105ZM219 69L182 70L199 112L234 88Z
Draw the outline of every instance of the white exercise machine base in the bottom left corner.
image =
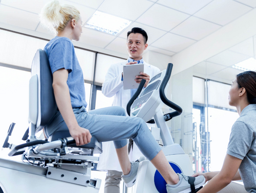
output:
M4 193L70 193L74 190L76 192L99 192L100 179L94 179L95 186L82 186L47 178L46 172L46 168L0 159L0 186Z

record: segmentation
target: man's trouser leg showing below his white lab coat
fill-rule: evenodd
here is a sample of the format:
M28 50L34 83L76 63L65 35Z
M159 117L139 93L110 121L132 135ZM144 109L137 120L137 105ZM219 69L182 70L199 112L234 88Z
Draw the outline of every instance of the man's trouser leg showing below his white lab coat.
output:
M105 179L104 193L120 193L121 175L123 175L122 172L108 170Z

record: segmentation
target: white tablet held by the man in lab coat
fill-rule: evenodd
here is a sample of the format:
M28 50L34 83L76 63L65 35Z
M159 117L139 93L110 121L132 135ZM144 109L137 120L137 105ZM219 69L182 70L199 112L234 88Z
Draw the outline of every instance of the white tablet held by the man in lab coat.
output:
M123 89L134 89L139 87L136 76L144 73L144 64L130 64L123 66Z

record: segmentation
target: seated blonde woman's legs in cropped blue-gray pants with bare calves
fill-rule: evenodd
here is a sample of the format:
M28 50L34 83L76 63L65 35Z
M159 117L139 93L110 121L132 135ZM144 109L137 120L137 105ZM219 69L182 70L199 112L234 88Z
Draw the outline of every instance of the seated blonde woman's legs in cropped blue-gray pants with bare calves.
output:
M166 180L166 183L172 184L176 182L177 174L169 165L159 144L156 142L143 119L125 116L125 111L121 107L97 109L91 112L89 111L89 113L78 110L76 112L74 111L74 113L79 126L89 129L91 135L96 137L98 141L114 141L119 155L118 159L121 167L124 168L124 173L131 170L126 145L127 139L133 138L142 154L148 160L152 161ZM119 116L114 116L113 114ZM61 128L67 130L67 127L63 127L65 122L62 121L59 125L62 126L59 127L58 131L62 131Z

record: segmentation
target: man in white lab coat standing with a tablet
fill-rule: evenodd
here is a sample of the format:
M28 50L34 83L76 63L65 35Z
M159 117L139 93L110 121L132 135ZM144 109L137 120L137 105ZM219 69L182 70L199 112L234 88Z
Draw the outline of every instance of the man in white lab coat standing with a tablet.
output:
M121 106L126 110L126 105L136 92L137 89L124 90L123 89L123 65L131 64L144 64L144 73L141 76L136 77L134 81L140 83L142 79L146 80L144 87L147 86L150 79L160 73L159 68L150 65L143 61L143 52L147 48L147 34L141 28L133 28L127 33L127 52L129 58L125 62L111 65L108 73L105 76L105 82L102 85L102 93L107 97L114 96L114 102L112 106ZM120 128L122 129L122 128ZM122 170L118 162L118 157L114 147L113 141L103 142L103 153L100 155L97 170L108 171L105 179L105 193L119 193L119 184L122 175ZM134 144L133 153L130 153L131 161L137 160L140 155L140 151Z

